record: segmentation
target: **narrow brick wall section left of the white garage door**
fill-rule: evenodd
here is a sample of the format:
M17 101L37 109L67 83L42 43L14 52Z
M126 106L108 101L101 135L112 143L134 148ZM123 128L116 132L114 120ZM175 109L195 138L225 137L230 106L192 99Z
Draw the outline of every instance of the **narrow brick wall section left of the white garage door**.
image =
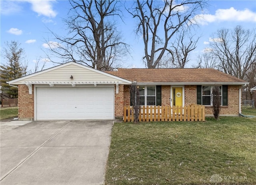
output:
M32 94L26 85L18 85L18 117L19 120L34 120L34 85Z

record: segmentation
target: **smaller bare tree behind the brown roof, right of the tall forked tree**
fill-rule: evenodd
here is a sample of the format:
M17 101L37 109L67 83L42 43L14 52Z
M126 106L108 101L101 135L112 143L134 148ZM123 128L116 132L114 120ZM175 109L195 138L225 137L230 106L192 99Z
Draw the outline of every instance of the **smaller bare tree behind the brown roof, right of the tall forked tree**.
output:
M191 35L188 30L182 30L176 36L176 40L172 43L169 53L171 54L171 65L175 68L184 68L189 62L189 54L196 49L196 44L200 37L193 39L195 35Z

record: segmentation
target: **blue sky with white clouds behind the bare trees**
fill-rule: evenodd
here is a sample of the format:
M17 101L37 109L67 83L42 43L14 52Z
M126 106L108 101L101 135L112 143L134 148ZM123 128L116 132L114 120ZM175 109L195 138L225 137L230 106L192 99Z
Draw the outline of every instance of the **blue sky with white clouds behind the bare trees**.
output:
M128 4L132 1L128 1ZM208 47L212 33L220 28L233 29L242 25L246 29L256 28L255 0L210 0L207 10L204 10L204 20L199 21L196 30L199 39L197 48L191 53L191 61L185 67L191 67L196 57ZM1 52L6 41L18 41L24 48L30 69L34 69L35 60L44 60L46 55L46 40L53 41L48 29L59 35L66 33L62 18L66 18L70 8L67 0L0 0L0 47ZM131 45L130 55L125 61L125 67L144 68L142 62L143 43L134 33L135 20L124 12L124 23L118 28L122 31L124 41ZM1 55L1 63L5 63ZM47 63L46 68L54 66Z

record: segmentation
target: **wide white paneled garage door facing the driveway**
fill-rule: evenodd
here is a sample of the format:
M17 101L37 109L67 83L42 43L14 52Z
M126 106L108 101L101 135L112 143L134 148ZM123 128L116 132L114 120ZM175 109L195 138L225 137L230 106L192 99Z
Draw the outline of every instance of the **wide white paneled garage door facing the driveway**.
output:
M37 120L114 119L113 87L38 87Z

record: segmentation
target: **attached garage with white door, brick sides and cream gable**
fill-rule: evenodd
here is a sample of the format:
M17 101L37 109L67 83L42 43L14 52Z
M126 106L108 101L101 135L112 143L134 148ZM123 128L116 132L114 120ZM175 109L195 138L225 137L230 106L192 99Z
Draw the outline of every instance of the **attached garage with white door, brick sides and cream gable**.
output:
M114 120L131 81L68 62L9 84L18 85L19 120Z

